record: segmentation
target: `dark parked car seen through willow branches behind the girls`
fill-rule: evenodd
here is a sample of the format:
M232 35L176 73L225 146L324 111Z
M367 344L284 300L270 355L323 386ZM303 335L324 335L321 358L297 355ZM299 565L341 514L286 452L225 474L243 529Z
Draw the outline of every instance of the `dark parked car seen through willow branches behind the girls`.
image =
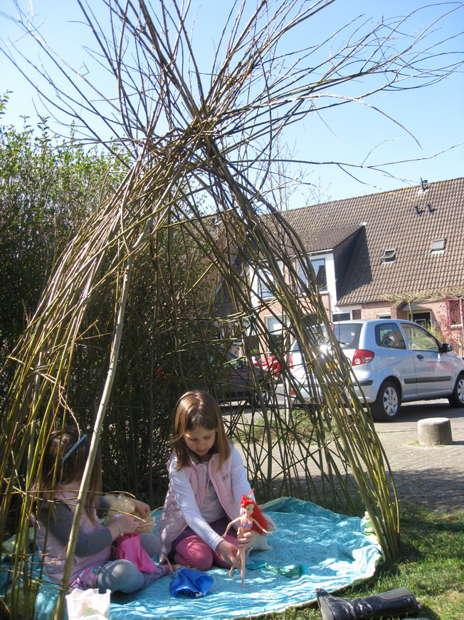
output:
M210 363L216 366L213 377L214 392L219 402L250 401L255 406L260 405L260 396L255 388L255 377L260 384L260 392L267 405L270 401L270 377L260 368L253 368L246 358L238 358L231 351L225 354L221 351L213 356Z

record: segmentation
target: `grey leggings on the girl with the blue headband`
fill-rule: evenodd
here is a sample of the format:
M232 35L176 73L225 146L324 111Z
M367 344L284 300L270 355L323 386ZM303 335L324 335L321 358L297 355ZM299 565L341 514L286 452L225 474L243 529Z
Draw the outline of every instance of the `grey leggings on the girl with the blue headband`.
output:
M140 534L140 537L142 538L142 547L150 557L159 552L157 537L153 534ZM160 574L157 574L158 572ZM159 569L154 574L142 573L135 564L132 564L127 559L116 559L114 562L103 564L98 572L97 587L100 592L120 590L127 594L139 590L145 584L154 581L158 577L162 577L164 574L164 569Z

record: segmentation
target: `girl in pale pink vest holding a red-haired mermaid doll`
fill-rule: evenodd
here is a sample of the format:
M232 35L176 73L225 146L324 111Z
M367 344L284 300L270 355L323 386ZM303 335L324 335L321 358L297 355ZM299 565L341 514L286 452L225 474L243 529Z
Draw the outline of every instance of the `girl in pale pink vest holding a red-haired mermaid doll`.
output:
M169 489L158 536L162 556L201 571L212 564L231 567L254 532L222 538L240 516L242 495L251 487L238 450L226 435L216 400L206 392L181 396L174 410L174 453L168 463Z

